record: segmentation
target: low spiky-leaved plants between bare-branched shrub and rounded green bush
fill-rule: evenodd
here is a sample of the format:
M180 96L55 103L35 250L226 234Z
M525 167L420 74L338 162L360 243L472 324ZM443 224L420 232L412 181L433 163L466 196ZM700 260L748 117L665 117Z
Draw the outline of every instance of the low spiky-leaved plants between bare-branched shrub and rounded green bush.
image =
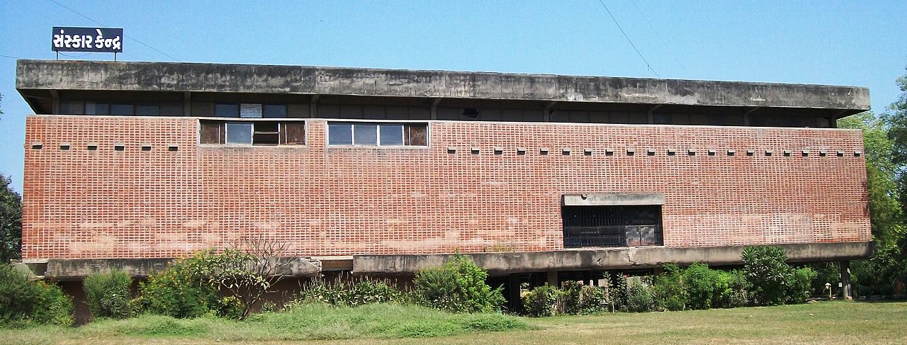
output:
M355 307L370 303L399 302L405 293L388 281L338 276L334 281L315 279L303 284L296 300Z

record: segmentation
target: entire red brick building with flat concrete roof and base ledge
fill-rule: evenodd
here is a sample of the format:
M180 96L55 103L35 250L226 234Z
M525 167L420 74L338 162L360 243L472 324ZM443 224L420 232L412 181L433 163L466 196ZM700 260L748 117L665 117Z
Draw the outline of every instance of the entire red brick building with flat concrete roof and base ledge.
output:
M459 251L542 280L872 252L863 87L20 60L23 258L61 280L243 236L294 274Z

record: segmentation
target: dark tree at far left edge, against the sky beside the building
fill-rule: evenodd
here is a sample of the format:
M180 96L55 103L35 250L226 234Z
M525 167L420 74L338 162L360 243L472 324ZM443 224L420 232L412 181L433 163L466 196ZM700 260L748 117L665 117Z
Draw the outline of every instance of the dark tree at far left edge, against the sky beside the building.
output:
M0 174L0 262L18 259L22 250L22 198Z

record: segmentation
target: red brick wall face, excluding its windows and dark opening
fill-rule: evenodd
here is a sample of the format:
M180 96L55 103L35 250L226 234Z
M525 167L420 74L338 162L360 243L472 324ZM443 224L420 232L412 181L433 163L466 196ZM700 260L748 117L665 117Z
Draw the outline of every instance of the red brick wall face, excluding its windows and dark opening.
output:
M561 195L580 192L664 192L671 247L871 240L857 131L435 122L430 148L336 148L321 120L306 147L199 146L197 126L30 116L24 258L185 256L259 233L298 255L561 250Z

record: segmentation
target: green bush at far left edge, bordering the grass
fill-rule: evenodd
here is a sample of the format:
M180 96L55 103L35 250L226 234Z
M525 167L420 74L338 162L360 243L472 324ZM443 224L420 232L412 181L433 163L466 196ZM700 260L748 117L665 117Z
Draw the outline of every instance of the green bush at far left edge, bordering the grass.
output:
M29 281L21 271L0 264L0 322L73 324L73 300L60 287Z

